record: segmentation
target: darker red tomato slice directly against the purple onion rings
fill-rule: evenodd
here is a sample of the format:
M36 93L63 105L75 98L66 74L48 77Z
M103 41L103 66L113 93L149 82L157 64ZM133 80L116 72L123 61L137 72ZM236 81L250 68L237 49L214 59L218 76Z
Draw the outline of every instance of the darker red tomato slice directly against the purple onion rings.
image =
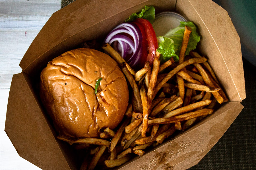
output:
M147 41L147 36L146 36L146 31L143 27L143 25L137 23L137 22L133 22L134 24L136 24L142 34L142 56L141 56L141 60L139 62L139 69L144 67L145 62L147 61L147 56L148 56L148 41Z

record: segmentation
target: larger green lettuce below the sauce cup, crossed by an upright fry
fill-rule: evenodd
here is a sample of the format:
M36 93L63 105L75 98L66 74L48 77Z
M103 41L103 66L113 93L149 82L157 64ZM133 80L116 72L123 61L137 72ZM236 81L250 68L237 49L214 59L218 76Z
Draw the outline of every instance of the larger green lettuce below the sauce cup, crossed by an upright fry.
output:
M194 50L197 43L200 41L200 35L197 33L197 27L193 22L180 22L180 25L174 29L168 31L163 37L158 37L158 52L161 55L161 62L165 62L174 57L174 61L179 60L179 51L181 49L181 44L184 36L185 25L191 27L191 34L189 37L189 42L185 52L185 56L189 54L191 50ZM167 41L168 40L168 41ZM171 41L172 40L172 41Z

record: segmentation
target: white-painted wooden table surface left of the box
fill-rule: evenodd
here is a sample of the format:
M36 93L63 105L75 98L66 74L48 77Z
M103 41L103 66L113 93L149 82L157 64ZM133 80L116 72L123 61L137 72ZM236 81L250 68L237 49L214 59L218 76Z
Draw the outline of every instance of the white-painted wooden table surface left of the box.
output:
M7 137L5 116L13 74L20 60L61 0L0 0L0 169L38 170L21 158Z

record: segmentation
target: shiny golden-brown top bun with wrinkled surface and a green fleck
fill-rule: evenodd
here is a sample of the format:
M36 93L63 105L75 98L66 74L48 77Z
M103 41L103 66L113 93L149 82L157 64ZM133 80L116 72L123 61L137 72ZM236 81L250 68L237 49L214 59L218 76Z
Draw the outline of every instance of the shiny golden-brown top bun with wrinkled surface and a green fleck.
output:
M60 135L98 137L100 129L114 129L123 119L127 82L107 54L89 48L65 52L47 64L40 80L40 97Z

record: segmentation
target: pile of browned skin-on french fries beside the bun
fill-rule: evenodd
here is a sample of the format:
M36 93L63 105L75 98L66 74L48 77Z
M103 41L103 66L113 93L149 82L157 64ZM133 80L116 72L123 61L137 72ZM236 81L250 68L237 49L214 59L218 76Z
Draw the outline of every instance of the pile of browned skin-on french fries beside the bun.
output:
M132 154L141 156L144 149L161 144L176 130L185 130L212 114L217 102L228 101L207 59L197 52L185 57L190 33L186 26L179 63L171 58L160 65L156 52L152 69L146 62L137 72L109 44L103 45L129 81L132 102L116 132L106 128L100 133L101 139L58 137L75 149L88 148L80 170L92 170L97 164L115 167L131 159ZM170 72L162 73L166 68L171 68Z

